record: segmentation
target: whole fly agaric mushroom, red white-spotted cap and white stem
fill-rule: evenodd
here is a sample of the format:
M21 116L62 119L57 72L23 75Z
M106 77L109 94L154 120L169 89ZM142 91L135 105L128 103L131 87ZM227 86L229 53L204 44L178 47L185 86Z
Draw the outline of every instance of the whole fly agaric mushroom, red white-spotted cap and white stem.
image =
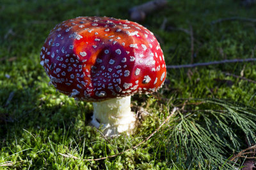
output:
M41 62L63 94L93 102L92 124L106 136L131 134L133 94L156 92L164 83L163 51L153 33L128 20L77 17L56 25Z

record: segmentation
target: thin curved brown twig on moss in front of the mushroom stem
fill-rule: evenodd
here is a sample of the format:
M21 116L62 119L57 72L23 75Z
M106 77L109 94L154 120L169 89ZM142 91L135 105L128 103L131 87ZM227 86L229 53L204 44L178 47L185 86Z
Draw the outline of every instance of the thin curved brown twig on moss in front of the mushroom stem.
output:
M152 136L154 136L154 134L156 134L156 132L158 132L159 129L160 129L166 122L168 122L168 120L169 120L171 117L173 117L173 115L175 114L176 111L177 111L177 108L173 108L172 113L171 113L168 117L166 117L166 119L164 120L164 122L163 122L161 125L159 125L159 127L157 127L156 131L152 132L152 134L150 134L150 135L148 136L148 138L146 138L146 139L144 139L143 141L141 141L140 143L138 143L138 145L132 146L132 148L129 148L129 149L123 151L123 152L116 153L115 155L110 155L110 156L108 156L108 157L102 157L102 158L98 158L98 159L80 159L80 160L84 160L84 161L104 160L104 159L108 159L108 158L111 158L111 157L116 157L116 156L118 156L118 155L122 155L122 154L125 153L125 152L128 152L128 151L130 151L130 150L134 150L134 149L138 148L138 146L140 146L141 144L145 143L146 141L148 141L148 139L150 139ZM66 155L66 154L63 154L63 153L60 153L60 152L59 152L59 154L62 155L63 157L68 157L68 158L72 158L72 159L79 159L79 158L77 158L77 157L75 157L75 156L73 156L73 155L71 155L71 154L69 154L69 153L68 153L68 155Z

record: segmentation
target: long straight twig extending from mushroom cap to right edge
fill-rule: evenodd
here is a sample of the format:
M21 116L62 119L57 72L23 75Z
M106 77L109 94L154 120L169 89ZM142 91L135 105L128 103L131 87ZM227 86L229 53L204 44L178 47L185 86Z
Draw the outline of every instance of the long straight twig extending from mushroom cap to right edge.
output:
M167 69L180 69L180 68L191 68L191 67L198 67L198 66L210 66L210 65L215 65L215 64L225 64L225 63L232 63L232 62L252 62L252 61L256 61L256 58L220 60L220 61L200 62L200 63L195 63L195 64L184 64L184 65L171 65L171 66L166 66L166 68Z

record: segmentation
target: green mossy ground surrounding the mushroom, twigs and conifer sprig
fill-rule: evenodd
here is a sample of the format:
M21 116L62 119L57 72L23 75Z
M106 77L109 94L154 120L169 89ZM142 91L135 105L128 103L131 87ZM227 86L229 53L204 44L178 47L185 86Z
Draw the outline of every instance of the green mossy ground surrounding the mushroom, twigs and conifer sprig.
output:
M96 159L122 152L147 138L168 116L168 108L182 108L182 104L189 103L189 98L230 99L255 107L256 84L225 74L256 80L256 66L252 62L168 69L166 83L159 93L133 97L133 107L143 106L151 115L143 118L134 136L106 140L90 127L86 120L92 114L92 104L77 103L48 86L49 78L40 66L40 48L52 27L63 20L93 15L129 19L129 8L143 2L0 1L0 169L221 169L228 157L247 147L247 134L242 131L243 127L239 130L239 125L232 124L230 120L227 125L230 129L234 127L234 134L223 135L224 138L229 137L227 145L223 144L223 152L212 151L212 154L221 153L222 162L207 159L207 155L200 153L203 150L199 150L198 145L190 145L194 147L190 150L198 149L198 157L203 154L204 160L196 160L197 155L189 155L190 152L182 153L182 138L178 135L179 139L175 139L177 134L173 127L180 127L181 120L187 121L189 109L193 113L202 108L213 110L215 107L204 105L200 108L190 104L186 111L180 111L136 150L90 162L59 154L70 153L81 159ZM159 39L166 65L179 65L191 62L191 36L181 29L193 29L194 63L255 57L255 22L234 20L212 24L219 18L253 18L255 14L256 6L241 6L238 0L169 1L166 8L148 15L140 24L148 27ZM161 29L164 20L166 25ZM208 125L207 119L202 120L200 114L189 118L200 127ZM244 124L250 124L246 121L244 119ZM250 129L250 125L248 127ZM216 130L216 136L226 132ZM234 136L237 143L232 143L230 136ZM190 135L188 141L192 138ZM180 145L172 146L172 139L179 141ZM10 166L3 166L8 161L11 161ZM243 160L236 166L241 167L241 164Z

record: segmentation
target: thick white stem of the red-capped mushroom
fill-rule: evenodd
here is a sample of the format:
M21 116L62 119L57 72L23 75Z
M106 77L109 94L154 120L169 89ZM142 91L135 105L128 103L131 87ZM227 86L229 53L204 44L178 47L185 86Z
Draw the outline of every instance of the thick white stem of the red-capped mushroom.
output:
M131 96L93 103L91 124L98 129L101 127L105 136L116 136L121 132L131 134L135 120L131 111Z

